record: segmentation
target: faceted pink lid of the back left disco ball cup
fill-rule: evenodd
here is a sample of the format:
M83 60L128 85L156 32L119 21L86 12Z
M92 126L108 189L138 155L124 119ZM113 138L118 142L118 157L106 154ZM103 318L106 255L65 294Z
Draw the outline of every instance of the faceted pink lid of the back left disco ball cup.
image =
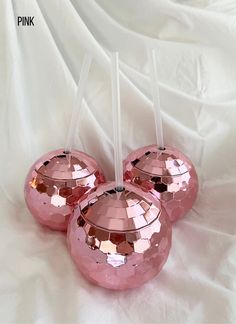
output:
M89 155L63 149L49 152L35 164L35 171L42 176L58 180L76 180L88 177L98 169L96 161Z

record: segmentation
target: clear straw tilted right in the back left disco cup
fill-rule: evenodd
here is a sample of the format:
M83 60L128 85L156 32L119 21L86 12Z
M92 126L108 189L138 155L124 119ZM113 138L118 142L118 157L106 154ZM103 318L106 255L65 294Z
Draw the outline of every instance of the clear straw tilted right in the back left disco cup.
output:
M80 71L80 77L79 77L78 87L76 91L74 107L73 107L70 126L67 134L67 140L65 146L66 153L69 153L72 147L74 146L74 139L75 139L75 132L78 124L78 117L80 114L80 109L81 109L82 100L84 96L84 90L87 83L91 62L92 62L91 55L86 54Z

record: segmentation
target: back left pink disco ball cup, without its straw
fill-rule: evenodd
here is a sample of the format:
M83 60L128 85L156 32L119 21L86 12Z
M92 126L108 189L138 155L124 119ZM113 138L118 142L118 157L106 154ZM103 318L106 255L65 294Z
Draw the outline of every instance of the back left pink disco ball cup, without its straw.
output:
M69 217L83 194L105 181L89 155L63 149L49 152L31 167L25 201L33 216L53 230L66 231Z

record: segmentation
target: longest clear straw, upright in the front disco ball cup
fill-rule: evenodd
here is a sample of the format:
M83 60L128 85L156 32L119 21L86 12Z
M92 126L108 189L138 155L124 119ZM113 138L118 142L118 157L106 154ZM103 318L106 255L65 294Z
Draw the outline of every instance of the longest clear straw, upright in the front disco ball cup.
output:
M123 190L123 164L122 164L122 142L120 127L120 81L119 81L119 54L111 55L111 86L112 86L112 115L114 136L114 162L115 182L117 191Z

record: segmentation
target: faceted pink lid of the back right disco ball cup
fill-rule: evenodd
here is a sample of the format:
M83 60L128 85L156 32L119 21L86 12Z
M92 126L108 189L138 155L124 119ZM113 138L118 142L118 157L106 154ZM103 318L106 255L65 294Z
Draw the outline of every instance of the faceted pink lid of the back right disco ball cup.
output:
M155 176L182 175L192 168L186 156L172 147L160 150L156 145L142 147L130 153L126 159L126 169L137 168Z

